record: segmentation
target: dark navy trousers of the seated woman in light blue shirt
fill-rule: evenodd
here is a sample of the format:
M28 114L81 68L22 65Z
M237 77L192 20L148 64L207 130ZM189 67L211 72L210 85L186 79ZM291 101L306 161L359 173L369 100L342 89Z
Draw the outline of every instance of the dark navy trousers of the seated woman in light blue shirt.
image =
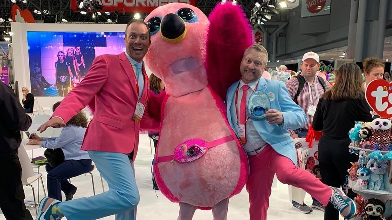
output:
M46 164L48 196L61 201L61 191L68 195L76 188L67 179L90 172L94 168L91 162L91 159L66 160L55 168Z

